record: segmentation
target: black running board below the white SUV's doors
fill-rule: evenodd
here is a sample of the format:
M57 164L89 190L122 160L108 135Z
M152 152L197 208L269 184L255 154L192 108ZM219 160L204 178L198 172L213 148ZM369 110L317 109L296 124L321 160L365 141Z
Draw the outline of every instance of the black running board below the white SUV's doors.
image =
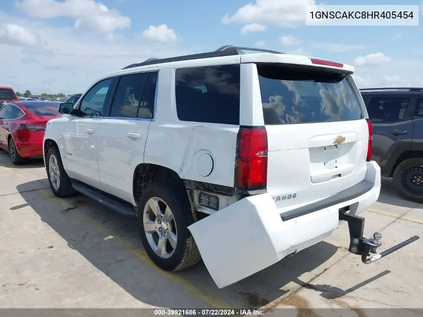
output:
M111 195L107 195L97 189L77 181L72 182L72 187L81 194L98 201L99 203L109 207L116 212L119 212L120 214L131 217L137 216L137 208L129 202Z

